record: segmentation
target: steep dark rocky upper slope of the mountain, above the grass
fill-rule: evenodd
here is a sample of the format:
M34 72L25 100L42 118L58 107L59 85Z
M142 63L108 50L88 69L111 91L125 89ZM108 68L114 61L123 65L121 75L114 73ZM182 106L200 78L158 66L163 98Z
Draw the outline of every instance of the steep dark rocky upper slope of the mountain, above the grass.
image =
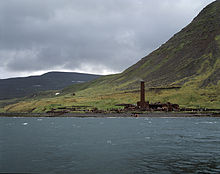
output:
M118 83L138 79L148 86L183 85L205 75L201 87L217 85L220 80L220 1L200 14L159 49L144 57L114 79Z

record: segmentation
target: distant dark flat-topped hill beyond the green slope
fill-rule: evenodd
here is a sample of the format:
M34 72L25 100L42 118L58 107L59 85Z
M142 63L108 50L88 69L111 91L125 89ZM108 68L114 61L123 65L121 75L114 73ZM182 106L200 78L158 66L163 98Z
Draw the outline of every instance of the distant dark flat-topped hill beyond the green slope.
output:
M48 72L40 76L0 80L0 99L24 97L46 90L58 90L72 84L87 82L100 75L75 72Z

